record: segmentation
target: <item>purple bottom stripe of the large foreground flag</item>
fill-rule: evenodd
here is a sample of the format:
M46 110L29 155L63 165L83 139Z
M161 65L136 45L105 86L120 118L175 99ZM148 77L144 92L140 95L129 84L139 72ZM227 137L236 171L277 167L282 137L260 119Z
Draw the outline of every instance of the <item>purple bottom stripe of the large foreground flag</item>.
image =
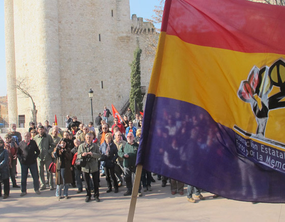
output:
M253 163L205 109L148 94L137 164L223 197L285 202L285 175Z

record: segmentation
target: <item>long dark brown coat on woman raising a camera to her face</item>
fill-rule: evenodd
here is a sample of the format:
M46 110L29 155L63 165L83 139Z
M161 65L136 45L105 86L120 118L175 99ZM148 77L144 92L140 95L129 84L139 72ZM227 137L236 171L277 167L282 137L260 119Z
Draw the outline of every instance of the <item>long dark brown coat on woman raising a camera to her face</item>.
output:
M54 148L53 152L56 152L56 147ZM64 163L65 163L64 182L72 183L73 180L72 180L72 174L71 174L71 158L72 158L71 150L69 148L66 148L63 154L61 153L61 151L59 153L60 155L63 155L64 157ZM56 185L63 184L62 175L60 175L60 183L59 183L58 161L59 159L56 158L56 170L55 170L55 184Z

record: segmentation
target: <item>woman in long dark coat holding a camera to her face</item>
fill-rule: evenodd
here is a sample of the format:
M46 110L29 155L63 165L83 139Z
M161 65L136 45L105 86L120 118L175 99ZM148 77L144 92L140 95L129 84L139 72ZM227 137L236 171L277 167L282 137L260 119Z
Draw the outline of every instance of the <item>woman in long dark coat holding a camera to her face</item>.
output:
M56 158L56 171L55 171L55 184L56 184L56 197L61 197L62 188L65 199L68 199L69 183L72 183L71 174L71 150L67 147L68 140L61 138L60 142L53 151L53 156ZM60 172L60 175L59 175Z

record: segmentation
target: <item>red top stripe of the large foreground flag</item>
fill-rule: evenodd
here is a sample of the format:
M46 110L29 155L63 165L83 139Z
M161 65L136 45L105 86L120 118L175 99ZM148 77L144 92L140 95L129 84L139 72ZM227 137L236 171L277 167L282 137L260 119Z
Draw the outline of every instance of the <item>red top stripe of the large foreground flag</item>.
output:
M283 6L241 0L166 0L164 17L161 30L187 43L247 53L285 53Z

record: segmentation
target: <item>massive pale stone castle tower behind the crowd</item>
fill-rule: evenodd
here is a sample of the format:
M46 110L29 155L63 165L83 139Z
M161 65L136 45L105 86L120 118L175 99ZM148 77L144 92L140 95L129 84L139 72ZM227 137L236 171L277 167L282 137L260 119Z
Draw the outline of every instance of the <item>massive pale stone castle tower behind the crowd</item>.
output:
M120 110L129 98L137 45L143 50L141 82L148 86L154 52L133 30L154 27L130 19L129 0L5 0L5 13L9 117L24 115L27 123L32 115L31 99L16 94L16 80L29 89L38 122L54 114L91 116L90 88L94 116L104 105Z

